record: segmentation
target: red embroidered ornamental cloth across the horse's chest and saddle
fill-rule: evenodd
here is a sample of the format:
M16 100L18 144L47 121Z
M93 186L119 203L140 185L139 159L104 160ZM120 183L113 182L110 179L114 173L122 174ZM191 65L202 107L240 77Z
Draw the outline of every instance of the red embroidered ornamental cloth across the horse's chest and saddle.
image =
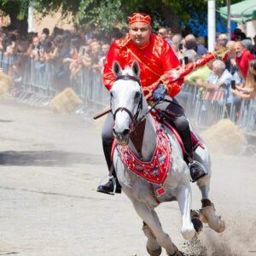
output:
M113 151L118 146L119 156L121 157L125 166L134 172L139 177L143 177L149 183L159 184L163 186L166 177L168 176L170 166L171 166L171 144L169 138L166 134L165 129L160 123L158 123L154 119L155 123L155 131L156 131L156 147L154 150L153 157L150 161L143 161L134 154L128 146L119 145L116 140L113 142L112 153L111 156L113 158ZM175 137L177 137L177 141L183 149L183 153L185 152L182 139L178 135L177 131L169 124L164 123L166 128L172 131ZM193 134L193 135L192 135ZM193 144L195 147L199 145L202 146L201 142L195 137L194 133L191 133Z

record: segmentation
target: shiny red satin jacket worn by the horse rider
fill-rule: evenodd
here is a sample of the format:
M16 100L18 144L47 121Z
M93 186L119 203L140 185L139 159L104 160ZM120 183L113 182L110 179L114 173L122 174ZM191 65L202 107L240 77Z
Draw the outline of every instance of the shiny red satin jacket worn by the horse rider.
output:
M103 70L103 82L108 90L111 89L115 80L112 70L113 61L119 61L122 68L131 66L133 61L137 61L143 89L150 89L150 85L154 83L163 83L166 84L168 95L174 97L183 84L183 79L170 83L173 78L161 77L166 72L180 67L180 63L166 40L154 34L150 35L149 44L143 48L133 44L129 35L113 42Z

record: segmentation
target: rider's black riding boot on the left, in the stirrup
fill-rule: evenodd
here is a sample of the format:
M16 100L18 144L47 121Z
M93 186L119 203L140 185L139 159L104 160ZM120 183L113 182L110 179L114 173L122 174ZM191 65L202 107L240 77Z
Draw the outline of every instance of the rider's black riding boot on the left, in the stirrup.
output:
M103 151L104 151L104 155L105 155L105 159L107 161L108 164L108 170L110 172L111 168L113 168L113 163L111 160L111 148L112 148L112 143L106 143L103 141ZM114 183L116 185L115 191L114 190ZM113 193L121 193L121 186L119 184L119 181L116 177L116 173L113 169L112 172L112 177L109 178L108 183L104 184L104 185L100 185L97 188L97 192L101 192L101 193L105 193L105 194L110 194L113 195Z

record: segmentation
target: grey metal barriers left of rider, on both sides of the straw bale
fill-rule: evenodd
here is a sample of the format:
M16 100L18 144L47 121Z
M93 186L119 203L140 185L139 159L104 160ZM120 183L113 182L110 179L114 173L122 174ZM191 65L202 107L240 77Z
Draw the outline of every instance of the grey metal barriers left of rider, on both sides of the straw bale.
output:
M34 106L47 105L50 99L58 92L55 84L55 75L59 67L55 63L34 61L24 58L19 73L15 73L13 65L18 55L3 55L0 52L0 61L3 72L9 74L14 81L12 94L18 102L24 102ZM91 106L93 102L97 108L109 105L108 90L102 84L102 75L96 69L83 69L75 79L65 80L64 87L72 87L73 90Z

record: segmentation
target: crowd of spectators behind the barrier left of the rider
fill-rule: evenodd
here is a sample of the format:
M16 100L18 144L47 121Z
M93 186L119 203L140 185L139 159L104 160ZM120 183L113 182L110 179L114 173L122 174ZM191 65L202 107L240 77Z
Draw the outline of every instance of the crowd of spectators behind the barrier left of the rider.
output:
M2 27L0 51L2 56L16 56L16 61L9 69L13 77L19 77L25 58L32 59L40 67L44 67L45 63L53 63L55 84L61 90L62 81L74 79L83 68L94 68L102 72L104 57L114 37L113 34L113 38L102 40L98 35L85 32L76 25L70 30L55 27L51 34L48 28L44 28L42 32L32 32L26 37L18 31Z

